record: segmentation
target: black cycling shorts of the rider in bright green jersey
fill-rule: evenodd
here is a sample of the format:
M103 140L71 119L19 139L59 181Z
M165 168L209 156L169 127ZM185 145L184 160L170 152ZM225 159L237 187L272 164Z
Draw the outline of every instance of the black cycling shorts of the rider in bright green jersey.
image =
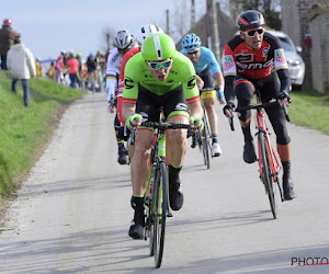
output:
M157 95L139 84L136 113L147 117L150 122L159 122L161 109L163 110L166 119L173 115L190 117L182 85L177 87L163 95Z

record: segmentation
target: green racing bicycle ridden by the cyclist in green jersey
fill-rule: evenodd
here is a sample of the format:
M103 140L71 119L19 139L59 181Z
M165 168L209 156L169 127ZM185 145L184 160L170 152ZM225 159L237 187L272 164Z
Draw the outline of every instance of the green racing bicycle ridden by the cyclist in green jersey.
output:
M158 122L143 122L140 127L154 129L154 142L150 153L149 175L144 194L145 209L145 240L149 240L149 255L155 256L157 269L161 266L166 219L172 217L169 209L169 176L166 163L166 134L167 129L189 129L190 125ZM135 142L136 127L133 127L131 145Z

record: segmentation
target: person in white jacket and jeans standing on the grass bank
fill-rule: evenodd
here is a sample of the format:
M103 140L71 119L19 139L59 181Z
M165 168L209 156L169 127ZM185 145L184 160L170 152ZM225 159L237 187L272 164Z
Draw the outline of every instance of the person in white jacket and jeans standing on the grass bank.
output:
M21 44L20 38L14 39L14 45L9 49L7 55L8 69L11 72L11 90L16 92L18 80L22 81L24 91L24 105L29 106L29 79L36 76L35 61L32 53L27 47Z

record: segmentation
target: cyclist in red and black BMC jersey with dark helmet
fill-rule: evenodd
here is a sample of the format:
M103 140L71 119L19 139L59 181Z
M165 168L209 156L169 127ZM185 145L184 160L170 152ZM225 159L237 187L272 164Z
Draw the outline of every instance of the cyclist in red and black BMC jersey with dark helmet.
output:
M232 116L235 96L238 106L249 105L256 90L260 91L262 102L279 99L281 106L288 106L291 82L280 39L264 31L264 18L258 11L242 12L237 23L240 35L230 39L224 49L225 115ZM296 194L291 179L292 142L281 106L269 107L266 113L276 135L277 152L283 165L284 198L293 199ZM250 111L241 112L239 116L245 136L243 160L247 163L257 160L250 117Z

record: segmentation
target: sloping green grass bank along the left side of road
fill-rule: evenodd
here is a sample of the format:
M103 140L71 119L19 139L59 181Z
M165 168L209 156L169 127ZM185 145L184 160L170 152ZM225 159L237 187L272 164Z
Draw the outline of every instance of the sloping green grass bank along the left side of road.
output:
M0 204L14 193L52 137L60 114L80 89L70 89L46 78L30 80L30 107L23 90L11 91L8 71L0 71Z

